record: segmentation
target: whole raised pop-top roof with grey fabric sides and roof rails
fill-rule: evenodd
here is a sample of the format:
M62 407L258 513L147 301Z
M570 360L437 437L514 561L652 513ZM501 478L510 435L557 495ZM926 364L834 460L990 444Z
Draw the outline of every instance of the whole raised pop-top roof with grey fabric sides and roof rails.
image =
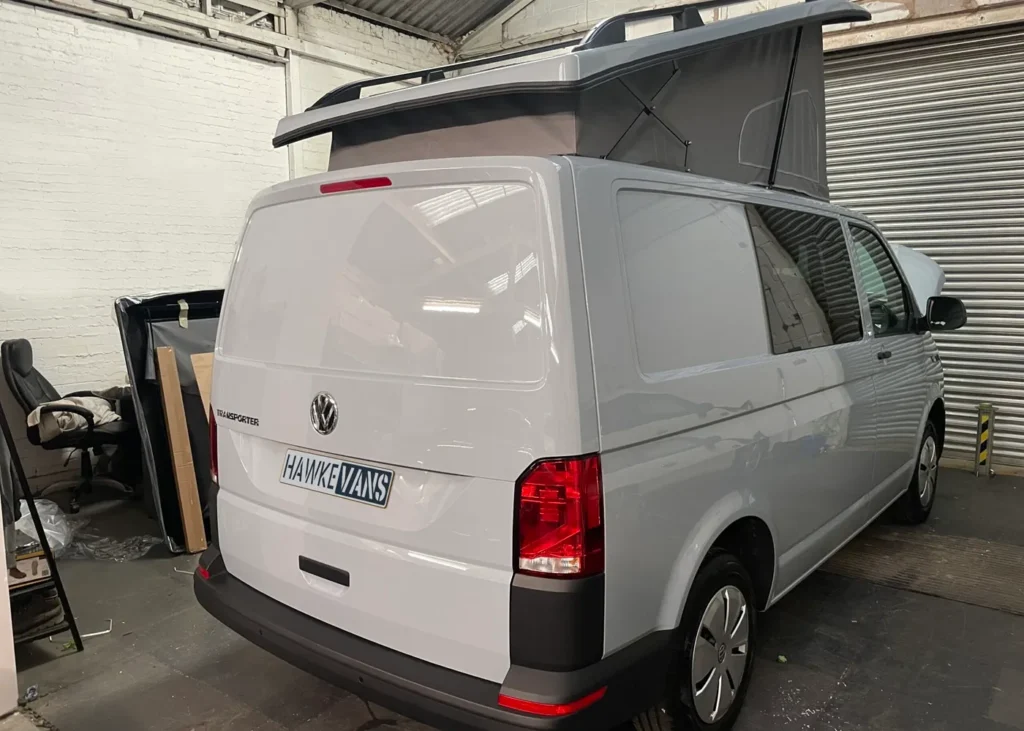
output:
M466 155L586 155L827 197L821 28L866 20L811 0L703 25L695 8L611 18L572 52L445 78L482 59L349 84L281 121L273 143L334 133L331 168ZM625 20L675 30L625 41ZM361 97L369 86L421 84ZM415 111L415 113L414 113ZM372 120L372 122L371 122Z

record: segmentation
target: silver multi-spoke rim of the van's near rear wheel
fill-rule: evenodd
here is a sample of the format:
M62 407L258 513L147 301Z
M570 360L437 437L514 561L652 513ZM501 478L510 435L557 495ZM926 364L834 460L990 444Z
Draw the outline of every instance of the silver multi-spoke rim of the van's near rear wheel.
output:
M750 608L735 587L719 590L705 609L690 660L693 704L701 721L728 713L746 672Z

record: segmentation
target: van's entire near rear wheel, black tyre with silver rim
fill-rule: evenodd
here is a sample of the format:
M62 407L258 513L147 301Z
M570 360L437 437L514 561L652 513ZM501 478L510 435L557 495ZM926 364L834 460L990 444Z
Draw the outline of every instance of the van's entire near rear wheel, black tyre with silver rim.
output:
M750 574L731 554L713 554L690 589L665 697L634 719L636 731L731 729L754 670L756 630Z

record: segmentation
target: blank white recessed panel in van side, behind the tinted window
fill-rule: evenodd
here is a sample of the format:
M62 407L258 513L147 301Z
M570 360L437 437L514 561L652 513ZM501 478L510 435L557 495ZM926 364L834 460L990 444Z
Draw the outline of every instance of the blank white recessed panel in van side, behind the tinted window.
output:
M764 354L742 205L654 190L621 190L617 205L641 372Z

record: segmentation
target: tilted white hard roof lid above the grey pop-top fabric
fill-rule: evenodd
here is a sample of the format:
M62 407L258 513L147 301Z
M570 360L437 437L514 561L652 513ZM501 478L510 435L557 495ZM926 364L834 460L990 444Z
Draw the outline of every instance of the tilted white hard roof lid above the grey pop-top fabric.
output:
M708 3L721 5L728 3ZM680 11L685 8L670 8ZM616 16L612 20L624 16ZM787 29L870 19L871 14L850 0L809 0L762 12L726 18L708 26L684 28L636 40L588 47L586 40L571 53L514 66L444 78L453 64L413 74L356 82L339 87L322 97L306 112L286 117L278 125L274 146L282 146L336 129L339 125L367 117L433 105L443 101L467 100L509 92L572 92L630 73L692 55L725 43L748 40ZM596 31L597 29L595 29ZM593 34L593 32L592 32ZM545 49L539 49L545 50ZM483 58L480 62L495 62ZM358 92L371 84L419 77L421 83L404 89L360 98ZM437 81L430 81L438 78ZM355 92L352 98L352 92Z

